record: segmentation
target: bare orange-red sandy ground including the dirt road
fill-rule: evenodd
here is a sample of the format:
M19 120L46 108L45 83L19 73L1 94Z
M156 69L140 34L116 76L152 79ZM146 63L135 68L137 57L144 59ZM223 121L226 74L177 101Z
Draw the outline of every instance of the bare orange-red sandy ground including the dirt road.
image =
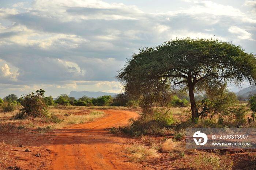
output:
M89 123L43 134L38 134L37 129L33 128L26 131L17 128L4 132L0 130L0 170L6 170L9 166L23 170L191 169L189 161L193 159L193 154L175 159L168 153L159 152L158 157L138 163L128 162L131 154L127 152L127 146L141 142L140 139L120 133L110 134L106 128L127 125L131 117L139 115L131 111L103 112L104 117ZM24 147L18 147L19 145ZM30 152L26 152L26 149ZM256 169L256 150L222 152L229 152L233 157L233 169ZM41 157L36 157L36 154L41 154Z

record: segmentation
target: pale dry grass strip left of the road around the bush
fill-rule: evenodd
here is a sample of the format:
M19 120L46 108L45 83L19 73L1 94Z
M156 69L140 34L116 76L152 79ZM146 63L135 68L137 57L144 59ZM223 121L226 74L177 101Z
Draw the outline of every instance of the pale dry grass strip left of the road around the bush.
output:
M65 109L49 108L49 116L34 119L13 119L18 111L0 113L0 130L26 131L28 128L37 128L39 133L52 129L59 129L71 124L85 123L103 116L104 112L89 110L86 107L66 107Z

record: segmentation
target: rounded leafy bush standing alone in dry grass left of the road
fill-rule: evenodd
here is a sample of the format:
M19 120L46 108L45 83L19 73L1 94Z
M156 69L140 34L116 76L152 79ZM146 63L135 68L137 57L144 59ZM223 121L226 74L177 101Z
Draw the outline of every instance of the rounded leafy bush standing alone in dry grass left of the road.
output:
M45 90L37 90L35 93L23 95L22 108L20 113L16 115L17 118L23 118L25 115L30 117L44 117L48 115L48 108L44 100Z

